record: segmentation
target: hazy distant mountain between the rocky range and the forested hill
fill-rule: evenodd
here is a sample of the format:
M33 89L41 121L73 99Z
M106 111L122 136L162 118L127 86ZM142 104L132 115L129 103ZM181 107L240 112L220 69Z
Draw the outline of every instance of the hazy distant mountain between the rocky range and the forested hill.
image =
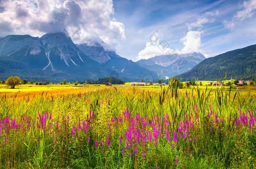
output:
M173 77L186 72L205 59L201 53L158 55L137 61L139 66L152 70L160 77Z

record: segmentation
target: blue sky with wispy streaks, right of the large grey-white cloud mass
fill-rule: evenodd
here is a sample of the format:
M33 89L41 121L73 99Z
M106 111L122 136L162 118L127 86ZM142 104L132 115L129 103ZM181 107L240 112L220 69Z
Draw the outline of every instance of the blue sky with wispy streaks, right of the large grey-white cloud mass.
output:
M196 45L196 52L206 57L256 44L255 1L114 0L113 8L114 18L125 26L126 37L116 46L117 53L133 61L156 30L159 42L165 40L169 45L165 47L177 51L184 48L182 39L189 31L199 31L201 44ZM199 43L193 37L191 42ZM154 45L141 58L153 55L150 48Z

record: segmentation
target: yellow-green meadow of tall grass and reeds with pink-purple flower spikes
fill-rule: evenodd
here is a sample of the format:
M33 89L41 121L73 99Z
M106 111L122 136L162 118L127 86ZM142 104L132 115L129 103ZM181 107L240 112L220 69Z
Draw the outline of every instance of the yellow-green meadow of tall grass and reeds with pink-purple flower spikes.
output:
M1 168L256 167L256 87L0 87Z

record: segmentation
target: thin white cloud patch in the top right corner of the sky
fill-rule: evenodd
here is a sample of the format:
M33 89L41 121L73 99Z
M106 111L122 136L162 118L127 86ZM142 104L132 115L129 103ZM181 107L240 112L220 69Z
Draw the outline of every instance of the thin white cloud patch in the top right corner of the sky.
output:
M246 18L251 18L255 13L253 10L256 9L256 0L248 0L243 3L244 10L240 10L235 14L235 18L239 20L244 20Z

